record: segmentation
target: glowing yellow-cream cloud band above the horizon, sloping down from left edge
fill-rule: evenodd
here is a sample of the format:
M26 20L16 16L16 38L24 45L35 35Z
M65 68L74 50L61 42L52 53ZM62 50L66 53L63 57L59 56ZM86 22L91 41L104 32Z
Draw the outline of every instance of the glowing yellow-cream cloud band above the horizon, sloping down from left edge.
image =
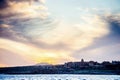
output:
M14 56L17 57L17 55L22 56L26 61L29 61L31 63L39 63L39 62L47 62L50 64L56 64L61 63L62 60L72 60L72 57L69 56L64 51L57 51L57 50L46 50L46 49L40 49L32 44L25 44L20 42L15 42L7 39L0 39L0 54L2 60L5 61L7 59L4 59L5 57L13 58ZM15 53L15 55L14 55ZM11 55L11 56L6 56ZM66 56L66 57L65 57ZM23 59L23 60L24 60ZM19 63L22 61L19 61L19 58L17 59ZM8 61L6 64L17 64L17 61ZM18 64L19 64L18 63ZM22 65L27 65L28 63L22 63Z

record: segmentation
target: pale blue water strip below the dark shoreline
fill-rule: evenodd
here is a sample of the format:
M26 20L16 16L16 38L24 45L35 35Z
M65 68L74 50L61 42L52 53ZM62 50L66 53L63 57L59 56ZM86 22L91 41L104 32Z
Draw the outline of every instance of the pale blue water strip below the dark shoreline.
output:
M120 80L120 75L0 75L0 80Z

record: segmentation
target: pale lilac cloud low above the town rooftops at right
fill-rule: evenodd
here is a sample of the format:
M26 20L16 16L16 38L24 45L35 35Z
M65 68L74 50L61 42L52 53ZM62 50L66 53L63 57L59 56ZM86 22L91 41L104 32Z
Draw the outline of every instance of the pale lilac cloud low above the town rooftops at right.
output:
M120 44L106 45L91 49L82 50L81 52L74 53L76 60L84 58L85 60L114 61L119 60L119 47Z

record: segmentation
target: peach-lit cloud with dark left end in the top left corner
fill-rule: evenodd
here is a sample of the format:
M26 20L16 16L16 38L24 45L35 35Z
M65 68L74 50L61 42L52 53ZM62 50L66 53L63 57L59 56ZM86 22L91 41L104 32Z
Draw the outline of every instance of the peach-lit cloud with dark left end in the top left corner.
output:
M47 8L44 6L42 0L2 0L0 3L3 4L1 7L9 5L0 9L1 19L15 17L15 15L20 18L39 17L42 19L48 16L48 12L46 12Z

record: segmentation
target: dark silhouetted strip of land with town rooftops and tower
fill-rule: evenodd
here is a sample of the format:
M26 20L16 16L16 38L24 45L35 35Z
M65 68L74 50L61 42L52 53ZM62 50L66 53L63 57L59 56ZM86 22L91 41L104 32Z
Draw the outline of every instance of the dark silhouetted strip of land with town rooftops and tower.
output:
M81 61L59 65L37 64L33 66L0 68L0 74L120 74L120 61Z

